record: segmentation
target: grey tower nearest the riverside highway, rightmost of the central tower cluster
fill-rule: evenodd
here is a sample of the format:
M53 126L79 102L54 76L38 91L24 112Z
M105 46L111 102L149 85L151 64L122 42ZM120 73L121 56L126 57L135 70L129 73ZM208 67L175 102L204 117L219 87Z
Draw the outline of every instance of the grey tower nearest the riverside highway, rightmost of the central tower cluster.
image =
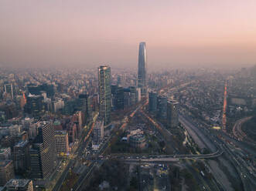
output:
M179 125L179 102L167 102L167 126L174 128Z

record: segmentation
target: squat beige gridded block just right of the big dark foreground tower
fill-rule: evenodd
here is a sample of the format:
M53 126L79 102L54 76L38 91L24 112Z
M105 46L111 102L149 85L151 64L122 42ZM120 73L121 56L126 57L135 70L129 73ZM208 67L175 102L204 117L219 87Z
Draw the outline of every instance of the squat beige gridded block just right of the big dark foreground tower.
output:
M69 152L69 142L67 131L55 131L56 139L56 152L67 153Z

